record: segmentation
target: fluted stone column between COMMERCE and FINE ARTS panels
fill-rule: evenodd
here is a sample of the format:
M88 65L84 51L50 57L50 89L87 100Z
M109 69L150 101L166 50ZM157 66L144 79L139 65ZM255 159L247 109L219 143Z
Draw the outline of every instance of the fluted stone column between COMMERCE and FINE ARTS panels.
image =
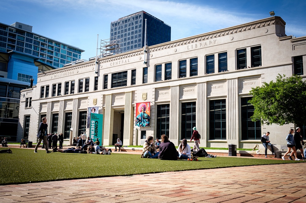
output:
M201 135L200 145L206 147L206 82L197 84L196 128Z

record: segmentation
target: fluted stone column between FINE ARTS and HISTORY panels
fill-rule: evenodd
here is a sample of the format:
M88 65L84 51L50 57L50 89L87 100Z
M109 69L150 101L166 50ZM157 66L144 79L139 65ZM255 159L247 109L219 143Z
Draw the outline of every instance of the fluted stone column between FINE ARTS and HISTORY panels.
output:
M239 147L238 79L227 80L226 134L228 144Z

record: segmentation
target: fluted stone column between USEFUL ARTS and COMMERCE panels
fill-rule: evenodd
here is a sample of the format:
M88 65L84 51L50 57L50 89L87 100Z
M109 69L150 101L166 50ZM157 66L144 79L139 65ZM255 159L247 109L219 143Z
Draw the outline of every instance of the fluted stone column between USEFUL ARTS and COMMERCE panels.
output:
M180 87L170 87L170 129L169 129L169 140L178 146L179 143L179 116L181 115L180 106Z

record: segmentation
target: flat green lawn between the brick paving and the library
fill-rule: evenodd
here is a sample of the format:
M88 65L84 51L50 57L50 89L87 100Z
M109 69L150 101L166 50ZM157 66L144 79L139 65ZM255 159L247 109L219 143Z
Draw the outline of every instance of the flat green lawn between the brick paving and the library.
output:
M6 149L6 148L1 148ZM217 157L199 161L166 161L140 158L140 155L69 154L32 149L11 148L13 154L0 154L0 185L88 177L121 176L165 171L251 166L296 161Z

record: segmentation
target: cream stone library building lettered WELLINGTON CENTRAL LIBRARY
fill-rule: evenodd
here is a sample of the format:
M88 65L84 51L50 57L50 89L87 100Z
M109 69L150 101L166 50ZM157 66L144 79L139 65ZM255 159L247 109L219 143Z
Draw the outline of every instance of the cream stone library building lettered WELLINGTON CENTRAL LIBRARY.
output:
M274 16L149 46L146 55L138 49L99 59L97 74L91 61L39 73L37 85L21 91L18 135L28 132L35 141L47 116L48 132L63 133L69 142L90 134L87 110L99 107L105 146L117 137L123 145L139 145L161 134L178 145L194 126L202 147L253 148L266 131L273 144L286 144L294 124L252 122L248 100L252 87L278 74L304 77L305 45L306 37L286 36L285 22ZM29 97L32 107L24 108ZM139 103L150 109L150 119ZM144 124L138 126L136 117Z

